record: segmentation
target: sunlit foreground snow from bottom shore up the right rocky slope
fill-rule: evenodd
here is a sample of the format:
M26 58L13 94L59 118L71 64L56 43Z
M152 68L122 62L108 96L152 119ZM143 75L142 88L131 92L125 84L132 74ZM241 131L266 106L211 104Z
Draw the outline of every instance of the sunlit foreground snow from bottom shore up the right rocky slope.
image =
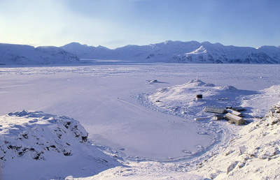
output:
M280 102L263 119L232 128L234 137L205 156L189 162L127 163L93 179L279 179ZM73 179L68 177L67 179Z

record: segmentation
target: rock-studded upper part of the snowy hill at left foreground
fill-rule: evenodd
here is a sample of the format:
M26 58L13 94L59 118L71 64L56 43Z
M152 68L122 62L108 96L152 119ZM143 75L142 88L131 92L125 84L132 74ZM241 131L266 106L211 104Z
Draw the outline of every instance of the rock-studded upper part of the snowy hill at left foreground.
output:
M1 117L0 159L16 157L44 160L48 151L73 154L72 148L87 142L87 132L78 121L43 112L12 112Z

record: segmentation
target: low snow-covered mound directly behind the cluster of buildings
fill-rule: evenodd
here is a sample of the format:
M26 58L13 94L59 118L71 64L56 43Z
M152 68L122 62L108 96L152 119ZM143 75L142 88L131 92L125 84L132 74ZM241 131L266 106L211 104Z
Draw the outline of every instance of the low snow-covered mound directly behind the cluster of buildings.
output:
M202 100L195 100L196 94L203 94ZM205 106L226 107L237 105L239 96L248 95L250 91L241 91L232 86L218 87L201 80L190 80L186 84L160 88L156 93L148 94L148 107L158 111L172 113L179 117L195 119L207 117L202 112Z

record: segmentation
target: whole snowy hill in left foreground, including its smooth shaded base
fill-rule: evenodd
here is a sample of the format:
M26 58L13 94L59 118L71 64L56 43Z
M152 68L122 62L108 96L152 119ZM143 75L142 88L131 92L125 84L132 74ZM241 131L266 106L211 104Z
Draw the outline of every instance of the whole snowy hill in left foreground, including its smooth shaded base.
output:
M24 110L1 116L0 124L3 179L86 177L120 164L92 146L69 117Z

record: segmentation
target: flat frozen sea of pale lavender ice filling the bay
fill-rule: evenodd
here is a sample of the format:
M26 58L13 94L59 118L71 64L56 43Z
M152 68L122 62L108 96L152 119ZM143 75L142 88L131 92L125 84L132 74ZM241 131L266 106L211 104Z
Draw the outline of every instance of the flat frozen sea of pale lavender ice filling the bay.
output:
M73 117L94 143L130 159L190 158L220 142L225 129L218 123L204 124L147 108L135 95L196 79L233 86L251 95L280 84L279 73L280 65L266 64L1 66L0 115L40 110ZM266 99L265 106L272 105L270 102Z

